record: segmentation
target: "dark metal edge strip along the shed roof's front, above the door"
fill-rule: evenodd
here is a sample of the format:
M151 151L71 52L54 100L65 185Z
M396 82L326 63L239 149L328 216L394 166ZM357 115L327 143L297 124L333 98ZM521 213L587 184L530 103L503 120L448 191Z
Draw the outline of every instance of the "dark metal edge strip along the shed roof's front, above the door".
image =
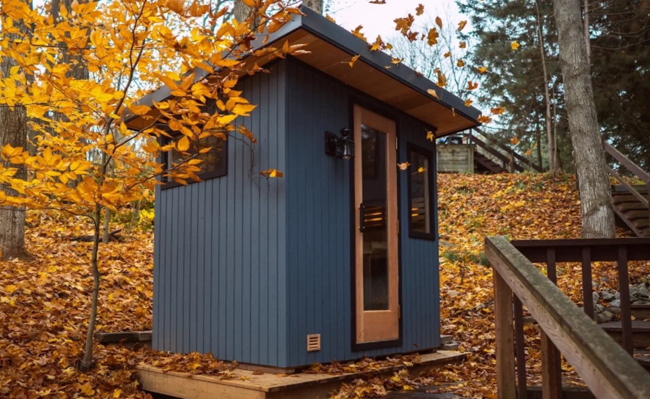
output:
M393 64L393 58L383 51L370 51L369 45L365 40L357 38L352 32L348 32L343 27L311 10L311 8L302 6L301 10L305 14L302 17L302 27L307 29L307 31L316 34L318 37L339 47L352 56L359 55L359 58L370 66L393 77L393 79L396 79L400 83L406 84L424 96L430 97L432 101L436 101L448 109L453 108L454 112L466 119L476 122L478 116L482 113L474 107L465 106L465 101L444 88L438 87L437 84L426 79L426 77L418 75L415 70L412 70L408 66L404 64ZM391 68L385 68L385 66L390 66ZM428 89L434 89L439 98L435 99L428 94L426 91ZM476 122L476 124L478 125L480 123Z

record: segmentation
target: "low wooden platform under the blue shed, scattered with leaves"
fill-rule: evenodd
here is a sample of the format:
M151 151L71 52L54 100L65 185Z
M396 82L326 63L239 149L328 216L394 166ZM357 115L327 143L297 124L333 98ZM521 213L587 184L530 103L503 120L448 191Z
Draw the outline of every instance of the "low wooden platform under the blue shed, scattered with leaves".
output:
M426 368L460 363L465 359L461 352L440 350L422 355L422 363L408 367L417 375ZM404 365L384 367L372 374L393 374L407 368ZM162 372L160 368L138 366L142 389L151 393L166 394L177 398L237 398L237 399L309 399L327 398L342 382L360 378L363 372L340 375L306 374L291 375L259 374L248 370L233 370L235 378L194 375L182 372Z

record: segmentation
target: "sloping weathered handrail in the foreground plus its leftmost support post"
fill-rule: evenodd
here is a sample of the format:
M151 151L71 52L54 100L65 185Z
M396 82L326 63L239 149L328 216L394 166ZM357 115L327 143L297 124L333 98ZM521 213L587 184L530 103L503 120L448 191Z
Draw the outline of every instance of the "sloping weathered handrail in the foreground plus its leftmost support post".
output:
M647 372L543 276L523 253L504 237L487 237L485 247L495 272L497 394L500 399L516 397L512 294L526 306L539 328L597 398L650 398Z

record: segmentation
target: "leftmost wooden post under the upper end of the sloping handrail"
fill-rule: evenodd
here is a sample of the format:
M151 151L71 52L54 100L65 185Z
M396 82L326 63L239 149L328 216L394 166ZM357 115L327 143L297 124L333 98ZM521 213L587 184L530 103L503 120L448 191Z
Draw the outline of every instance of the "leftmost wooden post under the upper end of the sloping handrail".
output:
M497 346L497 398L517 397L515 385L514 331L512 328L512 290L494 270L494 316Z

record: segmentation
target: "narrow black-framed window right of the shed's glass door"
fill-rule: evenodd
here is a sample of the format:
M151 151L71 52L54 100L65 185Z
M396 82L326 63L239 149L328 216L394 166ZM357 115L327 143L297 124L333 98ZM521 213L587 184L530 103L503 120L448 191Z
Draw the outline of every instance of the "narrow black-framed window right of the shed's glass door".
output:
M431 183L432 151L410 143L407 149L408 161L411 163L408 179L409 237L435 240Z

